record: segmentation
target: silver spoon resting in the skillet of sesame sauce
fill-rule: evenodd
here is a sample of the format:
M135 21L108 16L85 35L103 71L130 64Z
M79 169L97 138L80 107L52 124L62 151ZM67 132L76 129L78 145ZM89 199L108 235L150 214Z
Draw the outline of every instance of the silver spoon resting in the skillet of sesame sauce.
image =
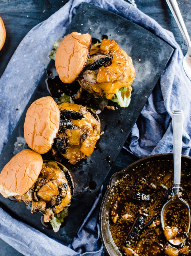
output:
M180 188L181 182L181 152L182 152L182 133L183 133L183 111L182 110L174 110L172 114L172 128L173 128L173 151L174 151L174 197L166 202L166 204L162 207L160 213L160 221L162 225L162 229L164 230L164 213L167 207L171 204L183 204L188 213L188 226L187 233L190 230L190 208L185 200L178 197L178 192ZM175 208L176 209L176 208ZM186 238L185 238L186 239ZM185 241L177 241L169 240L169 242L173 245L180 245Z

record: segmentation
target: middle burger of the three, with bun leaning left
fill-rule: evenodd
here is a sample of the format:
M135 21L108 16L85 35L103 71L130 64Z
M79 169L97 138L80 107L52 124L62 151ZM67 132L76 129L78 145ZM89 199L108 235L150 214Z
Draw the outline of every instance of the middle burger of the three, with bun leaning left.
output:
M50 96L37 99L26 112L24 139L39 154L52 150L71 164L93 153L100 138L100 120L84 106Z

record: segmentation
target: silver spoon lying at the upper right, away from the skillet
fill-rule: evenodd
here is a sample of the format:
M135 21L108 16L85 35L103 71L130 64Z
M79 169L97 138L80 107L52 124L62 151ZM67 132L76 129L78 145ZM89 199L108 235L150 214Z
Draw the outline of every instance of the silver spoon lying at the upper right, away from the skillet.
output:
M188 35L188 31L186 29L184 20L182 18L180 9L177 4L177 1L176 0L166 0L166 1L167 1L167 4L176 20L176 23L178 24L178 27L184 37L186 45L188 47L187 53L183 58L182 64L183 64L183 68L184 68L186 75L191 80L191 41L190 41L190 37Z

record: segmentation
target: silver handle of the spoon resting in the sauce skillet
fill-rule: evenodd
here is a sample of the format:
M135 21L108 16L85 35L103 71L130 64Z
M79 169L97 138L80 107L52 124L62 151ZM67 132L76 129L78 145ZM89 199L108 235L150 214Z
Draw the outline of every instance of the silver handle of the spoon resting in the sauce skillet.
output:
M174 153L174 193L178 196L181 183L181 153L182 153L182 133L183 133L183 111L174 110L172 113L173 130L173 153Z

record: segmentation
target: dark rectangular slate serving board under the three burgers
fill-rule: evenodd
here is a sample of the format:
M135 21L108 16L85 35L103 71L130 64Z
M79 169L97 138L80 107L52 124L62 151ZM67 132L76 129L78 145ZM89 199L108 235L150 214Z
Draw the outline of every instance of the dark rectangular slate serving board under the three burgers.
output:
M128 108L120 108L114 104L117 107L115 111L105 109L99 114L101 131L105 133L101 136L96 145L97 150L93 152L91 157L82 159L74 166L68 164L66 159L62 161L73 176L75 193L65 226L58 233L44 228L40 224L41 215L32 215L26 209L24 203L19 204L0 196L0 206L6 209L13 217L26 222L49 236L66 242L71 242L89 212L111 164L115 161L174 51L166 42L140 26L114 13L85 3L79 6L66 34L72 31L90 33L92 37L100 41L103 35L107 35L108 39L115 39L120 47L132 57L136 77L133 82L134 92L132 93L131 103ZM60 36L62 37L63 35ZM47 70L55 73L54 61L50 62ZM14 154L27 148L23 138L23 123L26 110L35 99L50 95L45 83L47 77L48 75L45 72L1 154L1 170Z

